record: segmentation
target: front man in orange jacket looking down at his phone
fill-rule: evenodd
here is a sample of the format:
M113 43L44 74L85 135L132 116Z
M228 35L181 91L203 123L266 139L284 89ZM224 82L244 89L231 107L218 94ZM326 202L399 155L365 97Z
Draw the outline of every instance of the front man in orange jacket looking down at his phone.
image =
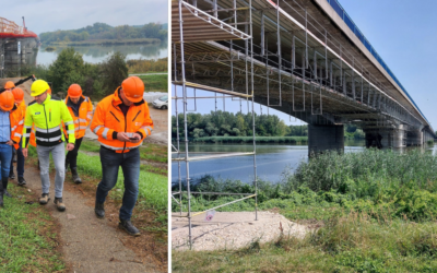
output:
M105 216L106 197L117 183L119 166L125 176L125 193L119 214L119 226L128 234L140 232L130 221L139 192L140 150L152 133L153 121L143 99L144 83L138 76L126 79L113 95L102 99L90 129L101 142L102 181L96 191L95 214Z

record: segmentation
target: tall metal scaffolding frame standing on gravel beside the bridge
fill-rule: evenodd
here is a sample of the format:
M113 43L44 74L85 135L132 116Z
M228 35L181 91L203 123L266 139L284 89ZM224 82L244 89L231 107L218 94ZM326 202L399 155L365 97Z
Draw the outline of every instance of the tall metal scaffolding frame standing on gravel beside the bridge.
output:
M176 15L175 13L175 4L176 1L173 2L173 16ZM172 97L175 100L175 114L176 114L176 132L177 132L177 144L176 146L173 145L173 149L175 152L173 152L172 154L177 155L176 158L173 158L172 161L177 162L178 164L178 186L179 186L179 190L172 192L172 199L179 205L180 207L180 212L179 212L179 217L187 217L188 218L188 244L189 244L189 248L192 248L192 235L191 235L191 221L192 217L206 213L209 211L213 211L226 205L231 205L233 203L236 202L240 202L250 198L255 199L255 219L258 221L258 182L257 182L257 159L256 159L256 127L255 127L255 100L253 100L253 58L247 58L248 52L252 52L252 22L251 22L251 17L252 17L252 10L251 10L251 0L249 0L248 2L246 1L240 1L240 0L233 0L233 7L232 9L218 9L217 5L217 0L213 0L213 10L211 10L210 12L213 13L213 15L208 14L206 12L198 9L197 7L197 1L194 0L192 4L189 4L188 2L184 1L184 0L178 0L177 2L178 4L178 23L179 23L179 32L174 32L173 35L173 51L174 51L174 69L175 69L175 73L174 73L174 81L173 84L175 86L174 88L174 96ZM189 13L187 12L187 10L189 10ZM228 12L232 11L233 12L233 17L232 21L233 23L225 23L225 20L220 20L218 19L218 12ZM238 14L237 12L244 11L244 16L246 17L246 22L238 22ZM185 16L184 16L185 15ZM191 17L190 17L191 16ZM206 23L206 26L203 25L203 31L199 32L197 25L189 25L188 27L185 27L184 23L186 23L184 21L184 17L186 17L186 20L188 22L196 22L199 21L199 19L201 21L203 21L204 23ZM208 25L210 24L210 25ZM237 28L238 25L244 25L245 29L244 31L239 31ZM213 26L213 28L211 29L211 26ZM217 29L214 29L214 27L216 27ZM174 27L175 29L175 27ZM204 29L208 29L206 32ZM188 39L186 40L186 34L185 31L188 32ZM203 56L200 60L196 59L196 56L188 56L187 60L185 57L185 49L184 46L186 43L192 43L192 41L201 41L201 40L208 40L209 38L212 37L212 35L214 36L214 39L226 39L229 40L231 43L231 47L229 47L229 58L227 59L227 61L231 62L231 79L229 82L232 84L231 91L228 90L223 90L223 88L217 88L217 87L213 87L210 85L202 85L202 84L197 84L194 82L189 82L186 80L186 66L187 63L191 63L192 64L192 70L194 71L194 63L200 61L203 62L206 59L211 61L216 61L217 59L221 59L221 55L215 56L214 54L208 55L208 56ZM179 43L177 41L177 38L179 38ZM238 92L234 92L233 85L234 85L234 59L239 60L239 52L238 51L233 51L233 40L234 39L243 39L245 40L245 79L246 79L246 91L244 93L238 93ZM249 44L250 40L250 44ZM179 45L179 48L177 48L177 44ZM248 48L250 45L250 49ZM179 50L178 50L179 49ZM177 52L179 51L179 56L177 56ZM178 58L179 57L179 58ZM180 75L177 74L177 60L180 60L180 69L181 69L181 73ZM250 60L249 60L250 59ZM251 76L251 84L250 84L250 88L249 88L249 70L250 70L250 76ZM194 72L196 73L196 72ZM182 97L178 96L178 92L177 92L177 86L181 86L182 87ZM187 95L187 88L191 87L194 90L193 96L189 97ZM208 92L212 92L214 93L214 96L202 96L202 97L198 97L196 95L196 90L200 88L203 91L208 91ZM215 110L217 110L217 94L222 94L223 96L221 98L223 98L223 108L225 109L225 99L231 97L233 98L238 98L240 100L240 111L241 111L241 100L246 99L247 104L248 104L248 108L249 108L249 103L251 100L251 116L252 116L252 145L253 145L253 151L252 152L248 152L248 153L210 153L208 155L202 155L202 156L189 156L189 146L188 146L188 130L187 130L187 106L188 106L188 99L193 99L194 102L194 108L196 108L196 102L197 99L200 98L214 98L215 100ZM184 104L184 131L185 131L185 138L184 138L184 142L185 142L185 151L184 154L180 151L180 138L179 138L179 112L178 112L178 100L182 100ZM181 157L181 155L184 155ZM223 157L231 157L231 156L252 156L253 157L253 186L255 186L255 193L229 193L229 192L192 192L191 191L191 185L190 185L190 167L189 167L189 163L192 161L203 161L203 159L211 159L211 158L223 158ZM187 183L187 191L182 191L182 178L181 178L181 163L185 162L186 165L186 183ZM187 194L187 201L188 201L188 213L186 215L182 215L182 194ZM215 194L215 195L243 195L244 198L231 201L231 202L226 202L224 204L208 209L205 211L202 212L198 212L198 213L192 213L191 212L191 197L192 194ZM179 197L179 200L176 199L175 195Z

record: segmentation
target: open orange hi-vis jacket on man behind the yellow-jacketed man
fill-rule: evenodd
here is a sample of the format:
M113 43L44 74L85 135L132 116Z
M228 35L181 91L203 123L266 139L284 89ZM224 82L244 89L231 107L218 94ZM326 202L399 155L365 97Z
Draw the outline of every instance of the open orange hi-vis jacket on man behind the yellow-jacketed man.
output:
M86 127L93 118L93 104L91 103L91 99L85 96L81 96L78 104L79 111L76 112L74 110L73 103L71 102L70 96L66 97L66 105L70 111L71 117L74 120L74 135L76 139L80 139L85 135ZM67 129L63 122L62 127L67 135Z

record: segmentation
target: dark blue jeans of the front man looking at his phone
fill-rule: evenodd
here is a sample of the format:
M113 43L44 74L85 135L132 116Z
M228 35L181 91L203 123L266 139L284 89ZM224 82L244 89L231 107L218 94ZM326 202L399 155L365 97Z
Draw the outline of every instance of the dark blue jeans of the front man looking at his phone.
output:
M101 146L102 181L98 183L96 200L105 203L108 192L116 186L118 169L121 166L125 176L125 193L120 209L120 219L130 219L137 203L140 179L140 150L134 149L125 154L118 154Z

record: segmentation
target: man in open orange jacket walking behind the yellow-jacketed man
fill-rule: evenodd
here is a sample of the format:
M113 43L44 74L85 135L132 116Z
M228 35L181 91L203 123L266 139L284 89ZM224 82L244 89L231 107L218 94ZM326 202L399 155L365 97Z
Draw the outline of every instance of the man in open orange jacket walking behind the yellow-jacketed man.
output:
M82 95L82 88L79 84L71 84L66 97L66 105L74 120L75 136L74 149L69 151L66 156L66 171L70 165L73 182L82 183L82 179L78 175L78 151L81 147L86 128L93 118L93 104L88 97ZM68 135L66 127L63 127L63 131Z

